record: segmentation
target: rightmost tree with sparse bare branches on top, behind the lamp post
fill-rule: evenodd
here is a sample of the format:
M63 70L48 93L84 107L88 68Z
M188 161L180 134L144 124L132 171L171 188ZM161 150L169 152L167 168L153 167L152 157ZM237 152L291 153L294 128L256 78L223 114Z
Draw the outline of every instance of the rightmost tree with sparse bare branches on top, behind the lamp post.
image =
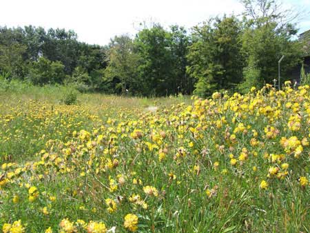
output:
M279 10L276 1L247 0L243 3L247 19L242 50L247 63L240 90L247 92L251 86L260 88L264 83L273 83L278 76L278 60L282 55L285 59L281 63L281 73L288 79L289 71L300 61L302 50L301 43L292 40L297 30L285 18L286 11Z

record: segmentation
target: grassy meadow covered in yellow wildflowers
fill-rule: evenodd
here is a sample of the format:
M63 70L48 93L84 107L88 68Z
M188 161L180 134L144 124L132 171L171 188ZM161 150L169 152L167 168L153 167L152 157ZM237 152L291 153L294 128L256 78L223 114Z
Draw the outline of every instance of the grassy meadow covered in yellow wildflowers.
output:
M310 88L0 88L3 232L310 232Z

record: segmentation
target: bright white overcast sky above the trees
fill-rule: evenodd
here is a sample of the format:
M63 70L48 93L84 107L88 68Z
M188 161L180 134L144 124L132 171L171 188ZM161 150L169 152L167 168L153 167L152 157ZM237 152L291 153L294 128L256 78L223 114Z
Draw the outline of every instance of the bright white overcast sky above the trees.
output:
M310 12L310 0L283 2ZM79 41L105 45L115 35L135 34L141 21L191 28L210 16L238 14L242 6L238 0L1 0L0 10L0 26L72 29ZM298 26L310 29L310 17Z

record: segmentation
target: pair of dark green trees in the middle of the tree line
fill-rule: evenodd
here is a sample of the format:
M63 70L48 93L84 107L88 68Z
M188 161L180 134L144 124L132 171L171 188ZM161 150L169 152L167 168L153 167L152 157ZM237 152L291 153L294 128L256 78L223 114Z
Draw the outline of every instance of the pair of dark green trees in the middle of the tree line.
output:
M134 39L138 92L148 96L191 93L192 79L185 72L189 44L186 30L178 26L165 30L155 24L138 32Z

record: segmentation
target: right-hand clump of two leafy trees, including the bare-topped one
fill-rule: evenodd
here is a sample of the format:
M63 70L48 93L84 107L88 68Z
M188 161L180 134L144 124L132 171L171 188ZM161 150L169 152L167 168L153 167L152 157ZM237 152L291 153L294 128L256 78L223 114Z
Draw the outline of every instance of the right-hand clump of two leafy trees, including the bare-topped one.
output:
M195 94L206 97L220 89L234 91L238 87L245 93L252 86L261 88L278 77L282 55L282 79L289 79L300 61L302 43L292 40L297 30L285 21L288 11L280 11L275 1L242 3L244 21L223 17L194 27L187 74L196 80Z

